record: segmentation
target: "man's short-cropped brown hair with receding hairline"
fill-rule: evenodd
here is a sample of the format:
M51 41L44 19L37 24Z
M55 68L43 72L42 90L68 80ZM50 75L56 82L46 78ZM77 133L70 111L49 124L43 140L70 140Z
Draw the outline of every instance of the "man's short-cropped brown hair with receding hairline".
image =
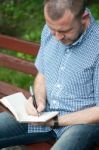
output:
M52 20L60 19L66 10L80 17L86 8L86 0L44 0L44 7Z

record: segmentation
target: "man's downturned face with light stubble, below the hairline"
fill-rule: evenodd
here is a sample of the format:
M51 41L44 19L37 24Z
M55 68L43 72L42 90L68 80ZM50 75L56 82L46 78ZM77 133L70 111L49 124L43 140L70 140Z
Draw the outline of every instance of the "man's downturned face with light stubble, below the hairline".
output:
M77 19L74 15L67 10L62 18L52 20L44 9L46 24L51 30L51 33L57 40L66 45L75 42L83 32L82 19Z

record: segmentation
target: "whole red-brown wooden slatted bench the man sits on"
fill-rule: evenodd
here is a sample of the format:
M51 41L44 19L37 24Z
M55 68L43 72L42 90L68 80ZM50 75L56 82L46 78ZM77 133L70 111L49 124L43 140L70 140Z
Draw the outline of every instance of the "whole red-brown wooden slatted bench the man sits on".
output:
M6 49L6 51L16 51L31 56L36 56L39 44L27 42L24 40L19 40L5 35L0 35L0 48ZM11 55L0 53L0 67L9 68L15 71L24 72L26 74L31 74L35 76L37 73L33 62L27 61L22 58L17 58ZM16 92L22 91L24 95L28 98L30 96L29 92L15 85L5 83L0 81L0 98L6 95L10 95ZM5 111L5 109L0 106L0 111ZM53 143L39 143L39 144L29 144L24 145L24 150L50 150ZM99 147L95 147L94 150L99 150Z

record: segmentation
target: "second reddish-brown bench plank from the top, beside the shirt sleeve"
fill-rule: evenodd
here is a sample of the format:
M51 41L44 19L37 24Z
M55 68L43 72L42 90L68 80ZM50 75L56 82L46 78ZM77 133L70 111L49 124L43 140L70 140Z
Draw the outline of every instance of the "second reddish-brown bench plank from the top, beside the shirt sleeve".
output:
M11 68L32 75L36 75L37 73L33 62L2 53L0 53L0 66Z

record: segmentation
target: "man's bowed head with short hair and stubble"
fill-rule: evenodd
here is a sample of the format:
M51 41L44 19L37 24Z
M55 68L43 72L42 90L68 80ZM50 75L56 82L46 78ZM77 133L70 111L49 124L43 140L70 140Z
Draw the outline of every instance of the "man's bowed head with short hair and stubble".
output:
M76 41L86 27L84 0L45 0L45 20L52 34L65 44Z

